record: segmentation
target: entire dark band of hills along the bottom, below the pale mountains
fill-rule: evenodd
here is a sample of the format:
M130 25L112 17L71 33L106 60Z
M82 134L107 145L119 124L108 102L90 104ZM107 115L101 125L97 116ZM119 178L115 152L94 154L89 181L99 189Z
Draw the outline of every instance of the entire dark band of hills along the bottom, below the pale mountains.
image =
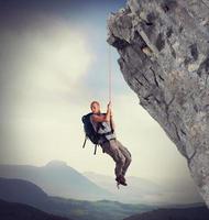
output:
M160 208L110 200L65 199L48 196L29 180L0 177L1 220L64 220L63 217L69 220L208 220L209 210L204 204Z

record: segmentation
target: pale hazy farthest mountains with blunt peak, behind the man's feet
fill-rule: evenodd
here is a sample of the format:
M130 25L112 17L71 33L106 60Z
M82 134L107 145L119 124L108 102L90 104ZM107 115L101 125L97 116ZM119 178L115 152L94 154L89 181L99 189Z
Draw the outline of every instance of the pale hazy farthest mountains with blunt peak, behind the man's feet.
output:
M0 165L0 176L32 182L51 196L81 200L118 200L128 204L173 205L202 201L194 186L160 186L151 180L128 176L128 187L117 189L114 177L79 173L65 162L45 166Z

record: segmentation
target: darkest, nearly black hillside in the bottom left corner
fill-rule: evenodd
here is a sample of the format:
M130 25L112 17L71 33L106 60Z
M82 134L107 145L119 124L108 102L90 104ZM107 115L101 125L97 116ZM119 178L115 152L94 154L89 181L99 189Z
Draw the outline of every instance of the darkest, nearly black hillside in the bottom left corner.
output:
M69 220L58 216L50 215L34 207L8 202L0 199L0 219L1 220Z

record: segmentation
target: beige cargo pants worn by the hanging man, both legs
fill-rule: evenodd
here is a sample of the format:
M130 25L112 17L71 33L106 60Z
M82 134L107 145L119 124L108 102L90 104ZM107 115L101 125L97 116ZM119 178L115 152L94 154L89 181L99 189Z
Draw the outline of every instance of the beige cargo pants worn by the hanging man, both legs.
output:
M101 144L103 152L109 154L116 162L116 176L125 175L129 165L131 164L131 153L117 139L110 140Z

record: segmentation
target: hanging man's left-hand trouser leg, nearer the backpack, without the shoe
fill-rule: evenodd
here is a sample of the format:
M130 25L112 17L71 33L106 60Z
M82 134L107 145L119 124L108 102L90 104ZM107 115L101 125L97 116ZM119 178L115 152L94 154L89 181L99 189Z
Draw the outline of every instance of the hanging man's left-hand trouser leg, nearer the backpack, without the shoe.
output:
M119 150L119 146L116 140L110 140L102 144L105 153L109 154L116 162L114 173L117 177L123 175L123 167L125 164L125 157L122 152Z

